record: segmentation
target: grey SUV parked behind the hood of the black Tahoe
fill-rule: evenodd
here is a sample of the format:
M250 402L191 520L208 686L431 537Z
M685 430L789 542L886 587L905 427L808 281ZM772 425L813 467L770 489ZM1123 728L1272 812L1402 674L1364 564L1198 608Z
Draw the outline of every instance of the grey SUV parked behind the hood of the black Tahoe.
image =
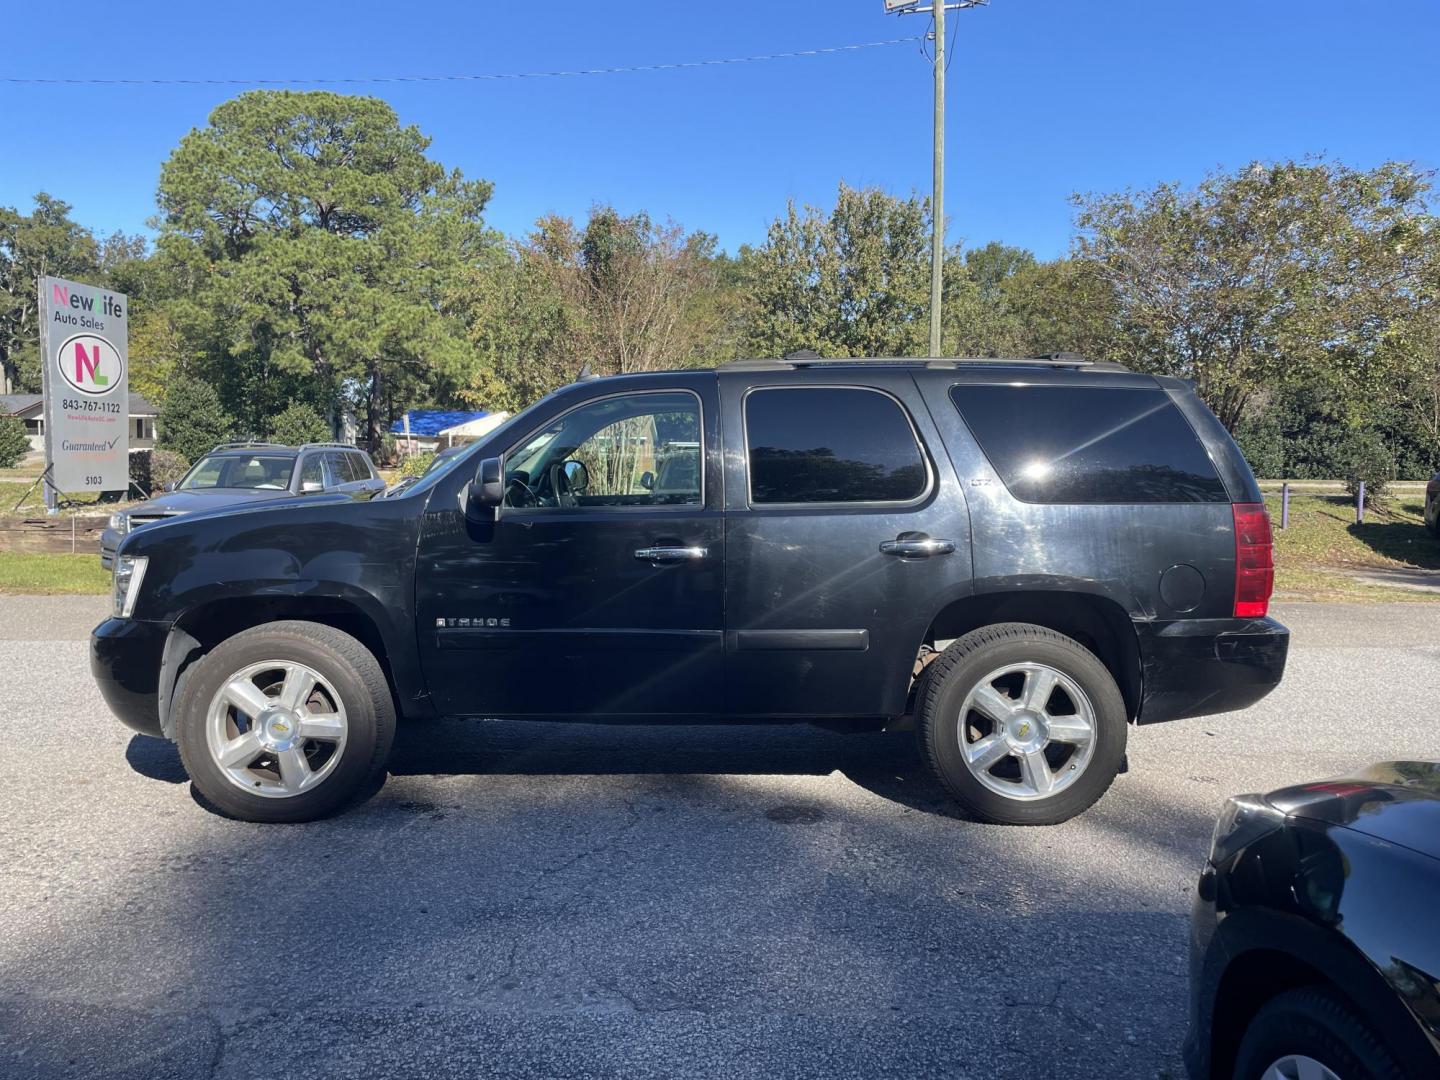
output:
M99 563L115 564L115 550L132 528L196 510L243 507L287 495L340 491L373 498L384 491L370 455L343 442L232 442L200 458L166 494L109 516L99 537Z

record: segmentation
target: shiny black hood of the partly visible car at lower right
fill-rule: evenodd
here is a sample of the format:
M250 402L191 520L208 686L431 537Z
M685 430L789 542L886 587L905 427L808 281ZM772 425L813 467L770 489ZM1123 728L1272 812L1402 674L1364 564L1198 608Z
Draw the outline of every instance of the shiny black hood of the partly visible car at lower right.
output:
M1351 776L1282 788L1266 802L1440 858L1440 762L1384 762Z

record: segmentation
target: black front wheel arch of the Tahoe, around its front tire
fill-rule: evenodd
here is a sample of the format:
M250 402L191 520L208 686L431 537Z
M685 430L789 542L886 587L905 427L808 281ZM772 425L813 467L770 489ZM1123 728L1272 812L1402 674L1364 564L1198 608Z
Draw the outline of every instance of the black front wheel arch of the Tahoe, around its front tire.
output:
M338 595L259 595L213 599L186 609L166 638L160 664L160 727L174 739L173 703L192 667L222 641L269 622L298 619L348 634L379 662L399 716L428 714L429 698L416 674L397 665L380 622L353 599Z

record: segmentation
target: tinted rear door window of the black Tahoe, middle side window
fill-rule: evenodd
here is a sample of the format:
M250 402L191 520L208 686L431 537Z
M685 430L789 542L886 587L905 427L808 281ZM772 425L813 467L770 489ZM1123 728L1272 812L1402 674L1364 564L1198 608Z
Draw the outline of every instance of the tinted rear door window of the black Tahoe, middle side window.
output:
M750 503L909 503L924 458L893 397L873 390L752 390L744 399Z

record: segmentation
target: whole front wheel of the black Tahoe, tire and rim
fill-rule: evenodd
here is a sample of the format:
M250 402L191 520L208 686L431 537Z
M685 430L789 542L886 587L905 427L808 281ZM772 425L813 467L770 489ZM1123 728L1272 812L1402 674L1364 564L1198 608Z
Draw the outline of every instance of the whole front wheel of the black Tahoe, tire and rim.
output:
M314 821L370 789L395 737L374 655L315 622L271 622L202 658L176 700L196 791L240 821Z

